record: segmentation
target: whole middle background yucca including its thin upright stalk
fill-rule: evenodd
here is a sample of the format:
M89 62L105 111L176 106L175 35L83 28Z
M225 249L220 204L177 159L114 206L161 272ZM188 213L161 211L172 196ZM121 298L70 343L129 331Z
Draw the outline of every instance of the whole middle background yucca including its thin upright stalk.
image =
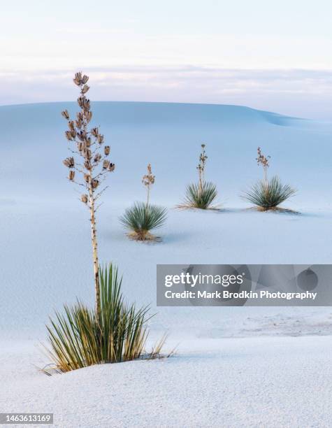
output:
M202 210L217 209L212 203L217 198L217 187L210 181L205 181L205 162L208 156L205 154L205 144L201 145L199 164L196 167L199 172L199 183L187 186L185 201L178 208L201 208Z

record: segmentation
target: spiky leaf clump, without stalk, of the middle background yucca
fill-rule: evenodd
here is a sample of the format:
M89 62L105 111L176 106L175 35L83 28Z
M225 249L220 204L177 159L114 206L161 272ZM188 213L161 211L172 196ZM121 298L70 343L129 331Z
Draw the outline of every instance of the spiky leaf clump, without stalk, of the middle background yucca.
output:
M201 187L198 184L191 184L187 186L184 205L206 210L213 208L212 202L215 201L216 197L217 187L213 183L205 181Z

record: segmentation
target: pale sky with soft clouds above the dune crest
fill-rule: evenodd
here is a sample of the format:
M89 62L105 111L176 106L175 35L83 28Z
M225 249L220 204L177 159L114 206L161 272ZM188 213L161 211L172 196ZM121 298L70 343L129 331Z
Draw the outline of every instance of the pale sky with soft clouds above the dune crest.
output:
M1 1L0 104L75 97L243 104L329 119L327 0Z

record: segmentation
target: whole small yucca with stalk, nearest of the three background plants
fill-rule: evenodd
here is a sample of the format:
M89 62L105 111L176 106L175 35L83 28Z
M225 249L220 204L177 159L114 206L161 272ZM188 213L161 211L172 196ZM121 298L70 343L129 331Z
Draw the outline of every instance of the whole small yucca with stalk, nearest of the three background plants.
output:
M156 236L151 231L163 226L166 222L167 210L162 206L150 204L150 187L154 184L151 165L147 165L147 174L143 176L142 183L147 188L147 201L136 202L127 208L120 222L129 231L129 238L136 241L154 241Z

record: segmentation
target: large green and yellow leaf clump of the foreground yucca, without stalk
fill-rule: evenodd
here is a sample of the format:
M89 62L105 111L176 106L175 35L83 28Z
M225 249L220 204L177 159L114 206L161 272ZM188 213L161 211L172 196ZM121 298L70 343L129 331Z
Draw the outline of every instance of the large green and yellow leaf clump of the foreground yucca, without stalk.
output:
M122 278L111 264L99 268L101 290L100 317L95 309L78 302L64 306L48 326L48 352L60 372L101 363L124 362L140 357L153 358L164 338L145 353L148 307L127 304L121 292ZM99 322L100 319L100 322Z

